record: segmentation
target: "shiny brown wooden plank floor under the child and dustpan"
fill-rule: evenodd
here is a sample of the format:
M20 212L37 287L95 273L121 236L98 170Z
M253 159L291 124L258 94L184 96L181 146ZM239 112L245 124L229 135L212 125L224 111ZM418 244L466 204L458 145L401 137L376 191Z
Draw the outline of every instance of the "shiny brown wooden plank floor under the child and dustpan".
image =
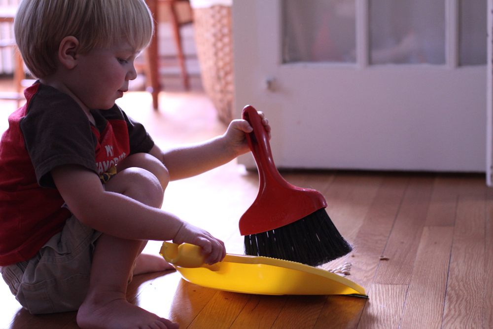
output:
M202 92L162 93L160 111L146 93L120 105L168 147L221 134ZM11 102L14 103L14 102ZM260 110L260 109L259 109ZM269 114L269 109L261 109ZM1 103L0 129L10 112ZM272 132L275 138L276 132ZM175 271L134 278L128 299L180 328L493 328L493 191L484 175L288 172L296 186L321 191L327 212L354 252L350 280L369 299L350 296L262 296L190 284ZM255 199L258 176L231 162L172 182L164 209L202 226L241 254L238 219ZM147 253L158 254L160 242ZM490 256L488 256L490 255ZM0 328L72 329L75 312L33 316L0 282Z

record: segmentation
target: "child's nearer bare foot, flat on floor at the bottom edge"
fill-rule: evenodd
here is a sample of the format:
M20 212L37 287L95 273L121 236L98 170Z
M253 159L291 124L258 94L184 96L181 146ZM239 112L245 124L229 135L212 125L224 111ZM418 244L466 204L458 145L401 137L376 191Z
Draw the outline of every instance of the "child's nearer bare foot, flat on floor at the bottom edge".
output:
M93 329L178 329L178 324L130 304L123 294L98 293L95 298L87 297L77 313L80 328Z

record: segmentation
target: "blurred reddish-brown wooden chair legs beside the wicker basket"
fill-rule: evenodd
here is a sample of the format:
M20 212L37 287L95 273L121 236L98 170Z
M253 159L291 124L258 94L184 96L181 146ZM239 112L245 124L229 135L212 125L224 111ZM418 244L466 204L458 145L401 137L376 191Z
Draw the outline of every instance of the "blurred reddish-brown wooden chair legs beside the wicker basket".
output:
M179 21L178 15L176 13L177 2L187 2L188 5L190 5L189 0L146 0L146 3L149 6L150 11L152 12L152 15L154 16L154 21L156 23L155 33L152 37L149 47L147 48L147 56L146 56L147 63L145 65L146 79L148 79L147 85L149 91L152 94L152 106L154 110L158 109L158 95L159 95L159 91L161 90L161 85L159 82L159 54L158 54L158 49L159 49L158 24L159 24L160 6L167 6L168 11L170 12L170 23L173 32L173 38L176 45L177 59L181 71L183 86L185 90L190 89L190 84L188 81L188 73L186 71L186 66L185 66L185 56L183 54L183 48L181 44L180 27L185 24L192 23L193 20L189 20L185 22Z

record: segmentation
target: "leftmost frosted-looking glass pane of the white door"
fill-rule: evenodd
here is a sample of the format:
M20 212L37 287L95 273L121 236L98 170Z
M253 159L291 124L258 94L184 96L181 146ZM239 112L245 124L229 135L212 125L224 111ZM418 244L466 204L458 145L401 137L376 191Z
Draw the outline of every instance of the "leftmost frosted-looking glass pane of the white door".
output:
M354 63L355 0L283 0L282 61Z

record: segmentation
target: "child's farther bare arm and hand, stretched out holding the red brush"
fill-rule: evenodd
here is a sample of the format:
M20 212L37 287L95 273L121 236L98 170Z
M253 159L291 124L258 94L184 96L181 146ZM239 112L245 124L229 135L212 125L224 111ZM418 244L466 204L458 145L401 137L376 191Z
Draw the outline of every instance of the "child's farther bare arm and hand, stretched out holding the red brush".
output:
M264 114L262 112L259 114L270 137L271 127ZM170 173L170 179L175 181L202 174L248 152L250 149L246 143L245 133L250 133L252 130L246 120L233 120L222 136L204 143L168 151L162 151L158 146L154 146L149 153L163 162Z

